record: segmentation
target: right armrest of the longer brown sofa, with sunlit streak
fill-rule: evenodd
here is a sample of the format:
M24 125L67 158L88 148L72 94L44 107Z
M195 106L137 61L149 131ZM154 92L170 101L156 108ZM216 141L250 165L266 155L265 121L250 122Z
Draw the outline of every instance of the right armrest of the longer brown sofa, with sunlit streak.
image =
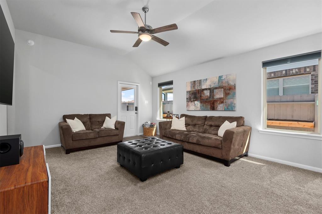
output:
M223 159L231 160L247 152L250 139L250 126L243 125L227 129L223 134Z

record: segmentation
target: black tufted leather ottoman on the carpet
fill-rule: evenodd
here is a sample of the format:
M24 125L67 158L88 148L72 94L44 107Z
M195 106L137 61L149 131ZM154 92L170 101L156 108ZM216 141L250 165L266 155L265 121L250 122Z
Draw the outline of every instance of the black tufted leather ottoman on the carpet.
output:
M141 181L183 164L183 146L156 137L118 143L118 163Z

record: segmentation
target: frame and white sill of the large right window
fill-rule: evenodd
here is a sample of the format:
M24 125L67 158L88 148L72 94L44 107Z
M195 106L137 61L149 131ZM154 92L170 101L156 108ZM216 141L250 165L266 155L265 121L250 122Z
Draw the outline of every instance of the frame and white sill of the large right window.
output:
M266 92L266 87L267 87L267 68L263 67L262 68L262 75L261 75L261 104L262 104L262 116L261 116L261 129L258 129L259 133L264 133L264 134L273 134L273 135L282 135L282 136L290 136L290 137L299 137L299 138L307 138L307 139L316 139L316 140L322 140L322 127L321 127L321 120L322 120L322 112L321 112L321 107L322 107L322 96L321 96L321 84L322 84L322 60L321 58L318 59L318 100L317 100L317 112L318 112L318 129L317 133L314 132L305 132L305 131L295 131L295 130L285 130L285 129L272 129L272 128L267 128L267 92ZM303 74L305 75L305 74ZM309 74L310 75L310 74ZM294 76L293 76L294 77ZM280 77L283 78L283 77ZM273 78L272 78L273 79ZM279 81L283 82L283 81ZM311 89L311 83L310 83L310 89Z

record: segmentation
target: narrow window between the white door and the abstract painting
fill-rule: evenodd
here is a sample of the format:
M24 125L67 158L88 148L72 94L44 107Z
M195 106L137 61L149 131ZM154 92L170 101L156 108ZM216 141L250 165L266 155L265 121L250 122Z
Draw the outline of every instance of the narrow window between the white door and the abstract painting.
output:
M173 81L161 82L159 87L159 119L164 119L166 114L173 114Z

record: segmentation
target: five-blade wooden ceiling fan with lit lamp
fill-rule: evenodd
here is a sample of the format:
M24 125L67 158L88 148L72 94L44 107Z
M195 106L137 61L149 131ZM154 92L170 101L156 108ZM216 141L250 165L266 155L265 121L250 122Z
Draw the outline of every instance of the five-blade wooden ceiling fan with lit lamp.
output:
M135 33L135 34L138 34L139 38L134 43L133 47L138 47L142 41L149 41L150 39L152 39L164 46L169 45L169 42L166 42L165 40L160 39L159 37L156 37L153 34L165 32L165 31L169 31L169 30L177 30L178 26L176 24L170 24L170 25L166 25L163 27L153 29L150 25L147 25L147 12L149 11L149 8L142 7L142 11L144 12L144 23L142 21L140 13L131 12L133 18L135 19L135 21L137 22L137 25L138 25L137 31L110 30L111 33Z

